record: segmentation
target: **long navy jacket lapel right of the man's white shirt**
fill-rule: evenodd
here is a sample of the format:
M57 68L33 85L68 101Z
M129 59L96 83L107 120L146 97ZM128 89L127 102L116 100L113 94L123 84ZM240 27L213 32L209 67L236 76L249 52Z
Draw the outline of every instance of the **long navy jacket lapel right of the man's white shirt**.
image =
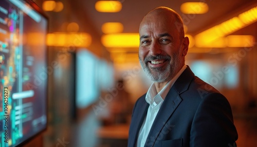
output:
M188 89L188 86L193 77L194 73L190 70L189 67L187 67L171 87L168 95L164 99L159 109L144 146L153 146L156 143L156 139L163 127L173 127L169 126L172 124L167 124L167 121L170 119L171 115L182 101L179 94Z

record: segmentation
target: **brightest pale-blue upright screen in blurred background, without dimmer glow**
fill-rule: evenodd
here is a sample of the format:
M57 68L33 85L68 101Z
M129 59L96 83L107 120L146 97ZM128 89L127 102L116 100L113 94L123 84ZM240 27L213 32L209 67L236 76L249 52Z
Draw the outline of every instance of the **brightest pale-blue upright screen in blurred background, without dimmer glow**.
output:
M76 53L76 106L85 108L96 102L100 96L97 84L98 58L87 49Z

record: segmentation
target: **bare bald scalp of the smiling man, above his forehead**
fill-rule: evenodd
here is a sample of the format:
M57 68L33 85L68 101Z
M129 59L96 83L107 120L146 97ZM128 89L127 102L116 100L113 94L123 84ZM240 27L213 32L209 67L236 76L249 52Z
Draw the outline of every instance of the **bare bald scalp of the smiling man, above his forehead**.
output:
M183 21L176 11L168 7L157 7L153 9L152 11L150 11L144 16L142 22L140 23L139 30L145 24L156 23L156 22L168 23L170 27L175 26L175 28L179 33L179 36L181 38L184 38L185 32L183 29Z

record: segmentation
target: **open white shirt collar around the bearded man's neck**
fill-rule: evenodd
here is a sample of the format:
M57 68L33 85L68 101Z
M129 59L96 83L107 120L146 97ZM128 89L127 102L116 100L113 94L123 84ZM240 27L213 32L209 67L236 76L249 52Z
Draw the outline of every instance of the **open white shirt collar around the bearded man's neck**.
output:
M156 106L157 104L161 103L165 97L168 95L171 87L176 82L178 77L181 75L181 73L187 68L186 65L184 65L177 73L175 77L173 77L157 94L156 87L154 83L150 86L148 89L148 92L145 96L145 101L148 102L152 107Z

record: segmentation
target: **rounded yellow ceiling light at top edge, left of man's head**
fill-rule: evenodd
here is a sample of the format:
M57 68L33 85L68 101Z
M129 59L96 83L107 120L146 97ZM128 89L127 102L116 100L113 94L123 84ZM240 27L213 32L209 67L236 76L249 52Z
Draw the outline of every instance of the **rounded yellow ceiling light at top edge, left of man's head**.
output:
M98 1L95 8L98 12L119 12L122 4L119 1Z

